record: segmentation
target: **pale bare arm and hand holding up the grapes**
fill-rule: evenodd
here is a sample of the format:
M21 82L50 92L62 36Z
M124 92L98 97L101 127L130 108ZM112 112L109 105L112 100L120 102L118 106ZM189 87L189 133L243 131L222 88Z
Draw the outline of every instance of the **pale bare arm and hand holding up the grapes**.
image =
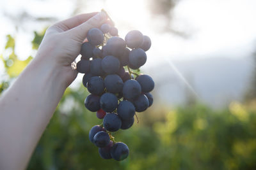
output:
M35 59L0 96L0 169L26 169L65 89L86 34L106 13L77 15L47 29Z

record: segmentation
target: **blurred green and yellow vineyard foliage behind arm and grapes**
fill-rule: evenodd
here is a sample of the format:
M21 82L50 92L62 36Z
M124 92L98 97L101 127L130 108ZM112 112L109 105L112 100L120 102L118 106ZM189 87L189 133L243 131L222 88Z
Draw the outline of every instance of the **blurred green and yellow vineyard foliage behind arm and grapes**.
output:
M44 34L35 36L33 48ZM22 70L20 62L28 64L31 58L20 61L15 39L7 36L7 40L6 50L11 52L1 60L9 81L1 83L0 93ZM155 103L138 113L139 124L114 133L116 141L130 148L129 157L116 162L101 159L88 139L91 127L102 120L84 108L86 95L83 85L65 91L28 169L256 169L256 111L248 106L233 102L216 111L190 104L171 110Z

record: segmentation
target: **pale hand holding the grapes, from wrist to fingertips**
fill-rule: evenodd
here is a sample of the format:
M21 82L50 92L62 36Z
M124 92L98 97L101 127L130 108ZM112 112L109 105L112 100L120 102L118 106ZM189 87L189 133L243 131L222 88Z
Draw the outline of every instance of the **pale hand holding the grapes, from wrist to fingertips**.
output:
M79 55L87 32L102 25L106 19L104 12L86 13L52 25L45 32L35 60L45 62L47 67L59 69L68 87L77 76L77 71L72 69L71 63Z

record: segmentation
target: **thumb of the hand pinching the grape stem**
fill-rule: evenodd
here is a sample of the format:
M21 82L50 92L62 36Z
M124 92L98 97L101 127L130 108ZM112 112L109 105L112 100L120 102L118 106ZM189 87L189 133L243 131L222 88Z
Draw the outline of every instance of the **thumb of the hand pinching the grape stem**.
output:
M77 27L74 27L66 32L68 36L70 36L70 38L83 43L84 39L86 38L87 32L93 27L99 27L104 22L106 22L106 20L106 13L104 13L104 11L101 11L83 24L78 25Z

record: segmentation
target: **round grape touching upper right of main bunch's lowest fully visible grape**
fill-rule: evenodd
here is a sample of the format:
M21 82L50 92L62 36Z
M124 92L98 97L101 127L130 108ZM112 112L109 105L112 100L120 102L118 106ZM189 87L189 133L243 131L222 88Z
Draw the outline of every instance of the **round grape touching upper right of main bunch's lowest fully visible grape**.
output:
M135 115L135 107L129 101L121 101L117 106L117 113L122 120L131 119Z

